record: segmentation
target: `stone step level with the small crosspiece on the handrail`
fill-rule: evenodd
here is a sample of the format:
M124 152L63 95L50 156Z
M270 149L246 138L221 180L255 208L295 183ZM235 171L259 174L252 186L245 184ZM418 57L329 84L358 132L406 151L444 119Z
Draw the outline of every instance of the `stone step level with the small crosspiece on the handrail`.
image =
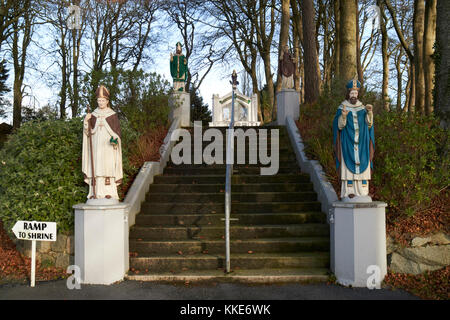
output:
M156 226L224 226L224 214L138 214L136 225ZM265 224L326 223L327 216L322 212L295 213L242 213L231 216L233 224L254 226ZM236 221L236 222L234 222Z

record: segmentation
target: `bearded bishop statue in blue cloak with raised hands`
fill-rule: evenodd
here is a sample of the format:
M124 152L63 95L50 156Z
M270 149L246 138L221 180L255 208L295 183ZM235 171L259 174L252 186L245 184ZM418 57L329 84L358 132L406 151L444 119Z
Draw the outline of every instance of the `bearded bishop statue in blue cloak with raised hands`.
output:
M369 180L373 169L375 136L373 106L359 101L361 83L347 83L347 95L333 120L336 170L344 202L371 202Z

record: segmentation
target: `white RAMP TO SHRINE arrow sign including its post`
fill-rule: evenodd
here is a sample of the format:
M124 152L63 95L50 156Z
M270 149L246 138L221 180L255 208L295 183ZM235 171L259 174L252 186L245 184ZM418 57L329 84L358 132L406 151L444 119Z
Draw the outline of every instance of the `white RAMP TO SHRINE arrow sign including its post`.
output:
M17 239L31 240L31 287L36 275L36 240L56 241L56 222L17 221L12 231Z

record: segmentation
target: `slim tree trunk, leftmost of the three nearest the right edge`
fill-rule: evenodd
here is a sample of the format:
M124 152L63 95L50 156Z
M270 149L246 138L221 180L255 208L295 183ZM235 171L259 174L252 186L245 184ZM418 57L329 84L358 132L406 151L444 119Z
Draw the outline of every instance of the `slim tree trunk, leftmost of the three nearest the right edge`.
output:
M425 27L425 2L414 0L414 68L416 85L416 111L425 113L425 71L423 63L423 34Z

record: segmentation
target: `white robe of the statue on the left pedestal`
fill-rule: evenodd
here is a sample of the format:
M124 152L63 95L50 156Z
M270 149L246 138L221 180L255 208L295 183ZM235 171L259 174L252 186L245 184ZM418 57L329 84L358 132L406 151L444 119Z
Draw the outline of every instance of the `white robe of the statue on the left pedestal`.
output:
M119 199L117 193L117 185L122 182L122 141L117 133L115 133L108 122L107 117L114 115L115 112L111 108L97 108L92 115L97 118L94 128L91 128L92 135L92 153L94 158L95 173L95 192L97 199L111 196L112 199ZM110 139L118 139L119 143L116 148L110 143ZM83 130L83 154L82 154L82 171L85 175L84 181L89 184L90 199L93 195L92 187L92 162L90 151L90 139L88 136L88 123L84 121ZM110 184L106 184L109 178Z

